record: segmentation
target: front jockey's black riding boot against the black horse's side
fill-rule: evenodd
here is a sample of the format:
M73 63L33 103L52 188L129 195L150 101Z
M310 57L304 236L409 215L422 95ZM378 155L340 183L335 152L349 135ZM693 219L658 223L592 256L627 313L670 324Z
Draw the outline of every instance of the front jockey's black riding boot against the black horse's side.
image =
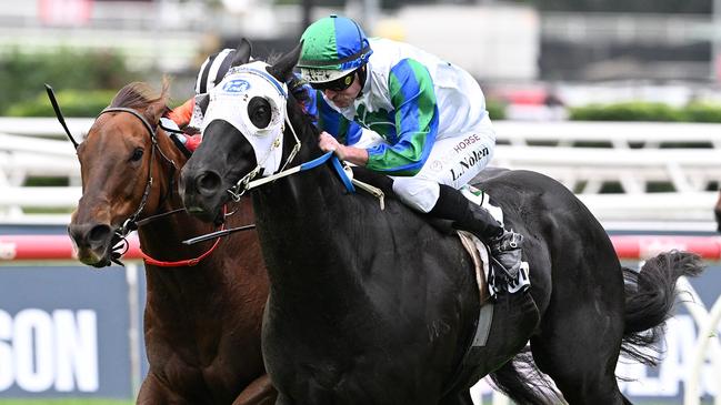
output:
M487 210L469 201L460 191L445 184L440 188L438 202L429 214L451 220L457 230L468 231L488 243L495 261L515 277L521 266L523 235L505 231Z

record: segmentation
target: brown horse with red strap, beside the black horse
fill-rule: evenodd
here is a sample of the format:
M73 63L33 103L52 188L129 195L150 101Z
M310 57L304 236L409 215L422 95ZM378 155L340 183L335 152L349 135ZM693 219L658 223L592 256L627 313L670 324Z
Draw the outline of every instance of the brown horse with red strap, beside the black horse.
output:
M160 94L144 83L126 85L78 146L83 194L68 231L84 264L109 265L128 223L182 207L176 185L187 158L158 125L167 93L167 84ZM228 210L236 212L228 226L253 222L249 201ZM184 211L139 226L143 252L170 266L146 262L150 371L138 404L276 401L260 348L268 276L258 235L234 233L214 250L213 241L181 244L213 230ZM194 257L202 260L182 265Z

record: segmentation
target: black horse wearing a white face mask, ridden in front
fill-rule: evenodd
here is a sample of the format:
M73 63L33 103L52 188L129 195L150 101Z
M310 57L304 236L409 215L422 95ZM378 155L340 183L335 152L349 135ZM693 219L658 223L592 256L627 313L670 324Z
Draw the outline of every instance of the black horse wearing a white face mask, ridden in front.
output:
M280 83L298 54L262 72L258 63L231 70L218 87L203 142L182 171L187 210L218 220L232 195L227 190L242 189L272 154L253 150L272 136L253 126L283 128L272 143L282 144L281 162L291 159L296 134L302 148L294 164L322 155L318 131L292 94L284 109L272 102L284 94ZM259 75L272 84L260 97L250 90L258 91ZM242 125L223 115L240 110ZM471 404L469 387L489 373L517 403L561 401L519 369L530 358L518 355L529 340L530 365L569 403L628 403L614 376L619 353L652 360L638 350L658 336L675 280L699 274L700 259L667 253L640 273L624 272L603 227L560 183L505 171L480 185L502 206L507 225L527 235L532 280L530 293L499 296L482 347L471 346L481 303L457 236L392 198L381 211L369 194L346 193L329 164L253 190L271 281L262 347L278 404Z

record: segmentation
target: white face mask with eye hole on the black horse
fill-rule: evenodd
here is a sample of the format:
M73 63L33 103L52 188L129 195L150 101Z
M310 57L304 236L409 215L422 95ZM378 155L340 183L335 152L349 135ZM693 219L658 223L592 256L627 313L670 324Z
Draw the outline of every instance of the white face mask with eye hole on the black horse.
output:
M258 166L264 175L281 166L288 102L288 87L268 73L268 67L257 61L230 69L210 91L210 105L202 128L204 131L213 120L222 120L238 129L252 145ZM262 128L250 118L253 100L254 103L267 101L270 105L270 121L260 123Z

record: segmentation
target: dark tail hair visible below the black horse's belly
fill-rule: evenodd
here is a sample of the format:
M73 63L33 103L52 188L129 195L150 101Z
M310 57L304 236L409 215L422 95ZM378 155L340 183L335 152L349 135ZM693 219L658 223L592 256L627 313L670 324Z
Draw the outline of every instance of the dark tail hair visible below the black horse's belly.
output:
M501 368L490 374L495 389L514 404L560 404L562 396L533 362L528 346Z

